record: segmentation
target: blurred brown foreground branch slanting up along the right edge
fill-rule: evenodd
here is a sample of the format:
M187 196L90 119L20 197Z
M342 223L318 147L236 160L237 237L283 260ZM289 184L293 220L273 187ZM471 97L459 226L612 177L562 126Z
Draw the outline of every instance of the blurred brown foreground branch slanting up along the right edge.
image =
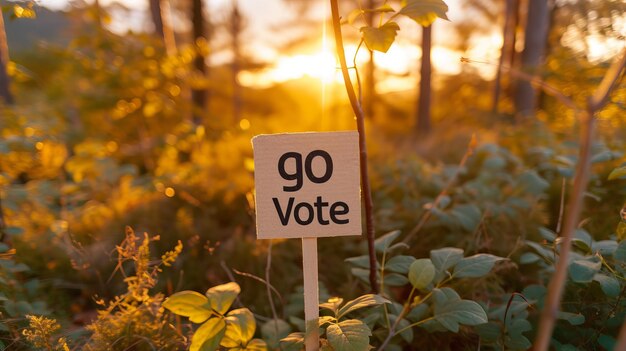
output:
M587 102L587 109L580 114L582 122L580 134L580 156L578 166L576 168L572 196L565 214L563 233L561 234L563 241L561 243L559 261L554 275L550 280L550 284L548 285L548 296L546 297L543 311L541 311L537 338L535 339L533 347L533 350L535 351L545 351L548 350L550 346L550 339L552 337L552 331L554 330L556 315L559 310L561 297L563 296L563 290L565 289L569 254L572 248L572 237L574 236L574 231L576 230L580 213L582 211L584 193L587 188L589 173L591 171L590 159L595 114L606 103L615 82L617 82L618 78L622 75L622 71L625 66L626 48L622 50L621 56L613 62L611 67L609 67L609 70L602 79L602 82L591 98L589 98Z

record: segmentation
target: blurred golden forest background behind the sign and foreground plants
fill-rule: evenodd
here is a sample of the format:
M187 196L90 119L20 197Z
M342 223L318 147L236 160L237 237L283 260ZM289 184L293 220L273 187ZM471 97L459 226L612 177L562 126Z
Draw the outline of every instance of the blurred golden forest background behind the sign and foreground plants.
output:
M399 20L389 51L371 54L365 45L356 53L359 28L378 14L348 17L382 1L340 1L366 114L376 232L400 230L405 254L415 257L454 246L509 258L458 287L464 297L506 304L504 296L549 277L541 250L546 235L549 243L549 233L560 231L580 129L559 95L585 108L625 46L626 5L447 3L450 21ZM118 259L126 226L150 233L153 259L182 243L173 267L148 284L150 294L235 279L241 303L261 321L271 311L265 285L251 276L269 278L271 254L279 311L297 329L300 242L256 241L250 139L355 129L326 2L0 4L2 345L30 347L22 340L25 316L45 315L59 321L73 349L98 349L93 333L104 332L85 326L104 318L98 302L129 289L132 269ZM518 79L520 72L539 83ZM612 241L614 252L626 236L623 75L597 114L592 150L577 238L590 252ZM366 267L344 262L367 252L364 238L319 245L322 297L369 291ZM610 349L626 313L618 272L610 277L617 294L602 290L602 279L577 286L584 293L572 293L578 302L568 308L585 323L557 327L555 340ZM598 300L608 307L584 304ZM444 339L407 345L461 349L460 340L476 349L468 333Z

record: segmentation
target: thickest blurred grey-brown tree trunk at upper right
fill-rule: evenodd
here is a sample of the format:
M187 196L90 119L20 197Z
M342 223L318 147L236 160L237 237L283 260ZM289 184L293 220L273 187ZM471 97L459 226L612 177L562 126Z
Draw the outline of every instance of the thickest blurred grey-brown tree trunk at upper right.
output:
M522 70L536 74L542 64L546 41L548 39L547 0L529 0L524 31L524 51L522 52ZM527 81L517 81L515 92L515 110L518 115L528 117L537 106L537 92Z

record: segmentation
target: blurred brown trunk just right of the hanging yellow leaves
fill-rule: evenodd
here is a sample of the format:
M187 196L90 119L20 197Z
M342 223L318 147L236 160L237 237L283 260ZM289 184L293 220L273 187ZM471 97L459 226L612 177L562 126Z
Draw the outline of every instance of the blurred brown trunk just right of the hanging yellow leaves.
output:
M420 89L417 102L417 134L425 135L430 132L430 49L432 46L432 28L422 27L422 62L420 67Z

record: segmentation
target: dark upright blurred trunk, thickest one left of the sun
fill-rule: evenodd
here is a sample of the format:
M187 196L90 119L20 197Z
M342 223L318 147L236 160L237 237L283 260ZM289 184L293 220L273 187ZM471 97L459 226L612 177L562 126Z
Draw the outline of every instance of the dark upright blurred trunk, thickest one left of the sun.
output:
M202 0L191 0L191 24L192 24L192 32L193 32L193 42L201 42L206 41L205 34L205 20L204 20L204 9ZM196 53L196 58L194 59L193 65L194 68L202 77L207 76L207 66L206 66L206 57L203 53L204 50L200 49ZM196 126L202 125L202 116L204 114L205 109L207 108L207 90L206 89L194 89L191 91L191 99L193 102L193 114L192 120Z

